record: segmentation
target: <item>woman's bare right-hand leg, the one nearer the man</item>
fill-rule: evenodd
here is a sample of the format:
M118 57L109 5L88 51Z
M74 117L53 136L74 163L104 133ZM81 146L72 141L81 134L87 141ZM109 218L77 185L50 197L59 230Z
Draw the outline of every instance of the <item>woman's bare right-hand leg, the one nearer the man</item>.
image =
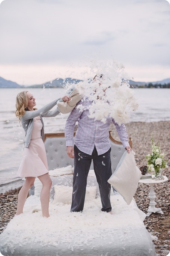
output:
M50 188L52 185L52 181L50 179L49 173L38 176L38 179L43 184L43 188L41 190L41 209L43 217L49 217L49 200L50 200Z

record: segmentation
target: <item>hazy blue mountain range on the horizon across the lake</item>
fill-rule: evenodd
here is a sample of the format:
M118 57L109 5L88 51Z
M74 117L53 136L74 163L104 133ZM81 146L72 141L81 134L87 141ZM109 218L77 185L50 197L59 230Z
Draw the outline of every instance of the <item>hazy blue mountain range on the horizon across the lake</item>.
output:
M24 86L24 85L19 85L13 81L10 81L10 80L5 80L4 78L0 77L0 88L26 88L26 87L29 87L29 88L59 88L59 87L63 87L65 82L70 82L70 83L79 83L80 81L82 80L78 80L78 79L74 79L74 78L65 78L62 79L62 78L57 78L53 81L49 81L49 82L46 82L44 84L35 84L35 85L30 85L30 86ZM154 84L169 84L170 83L170 78L167 78L167 79L164 79L164 80L161 80L161 81L155 81L155 82L136 82L136 81L132 81L132 80L129 80L129 83L130 85L132 85L133 87L138 87L138 86L147 86L149 83L152 83L153 85Z

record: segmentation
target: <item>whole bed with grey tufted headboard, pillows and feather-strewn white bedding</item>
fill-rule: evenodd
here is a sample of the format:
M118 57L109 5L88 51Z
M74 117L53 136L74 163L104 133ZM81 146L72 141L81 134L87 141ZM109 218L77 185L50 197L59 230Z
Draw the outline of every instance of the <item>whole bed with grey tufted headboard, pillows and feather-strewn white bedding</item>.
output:
M112 170L125 149L111 141ZM131 142L130 142L131 143ZM119 194L111 192L113 215L101 211L99 188L90 167L83 212L70 212L73 160L68 158L64 133L46 134L45 148L52 178L50 218L41 215L41 184L35 180L24 206L24 214L15 216L0 236L4 256L154 256L151 235L143 220L146 215ZM33 213L32 213L33 212Z

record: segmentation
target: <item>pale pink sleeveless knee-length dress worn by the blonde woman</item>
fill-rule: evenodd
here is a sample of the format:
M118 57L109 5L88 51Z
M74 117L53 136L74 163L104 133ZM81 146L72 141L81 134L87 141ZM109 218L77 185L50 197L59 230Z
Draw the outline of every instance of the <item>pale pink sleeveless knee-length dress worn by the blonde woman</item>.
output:
M19 177L38 177L48 173L48 164L43 140L41 139L42 123L40 116L34 118L31 141L24 148L21 164L17 175Z

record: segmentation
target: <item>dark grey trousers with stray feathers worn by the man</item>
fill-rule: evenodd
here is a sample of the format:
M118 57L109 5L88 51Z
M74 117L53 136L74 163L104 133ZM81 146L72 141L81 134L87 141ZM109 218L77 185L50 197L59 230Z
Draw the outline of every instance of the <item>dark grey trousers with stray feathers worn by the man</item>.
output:
M93 166L102 202L102 211L110 212L110 191L111 185L107 182L112 175L111 169L111 148L102 155L98 155L96 147L92 155L80 151L74 145L74 175L71 212L83 211L86 195L87 176L93 159Z

